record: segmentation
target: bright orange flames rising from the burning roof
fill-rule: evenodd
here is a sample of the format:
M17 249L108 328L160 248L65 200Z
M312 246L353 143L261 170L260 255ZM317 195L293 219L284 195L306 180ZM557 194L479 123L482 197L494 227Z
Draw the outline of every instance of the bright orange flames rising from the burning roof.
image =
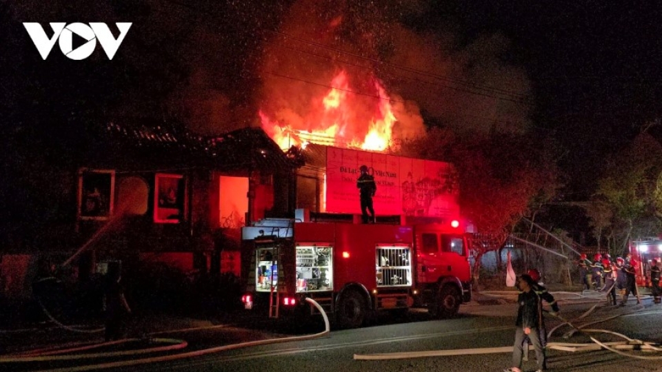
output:
M374 98L366 100L352 90L348 74L339 72L331 81L332 88L322 97L312 99L304 124L284 124L272 120L260 110L265 132L282 149L305 148L308 143L382 152L392 145L396 116L388 93L372 79ZM368 104L366 104L368 102Z

